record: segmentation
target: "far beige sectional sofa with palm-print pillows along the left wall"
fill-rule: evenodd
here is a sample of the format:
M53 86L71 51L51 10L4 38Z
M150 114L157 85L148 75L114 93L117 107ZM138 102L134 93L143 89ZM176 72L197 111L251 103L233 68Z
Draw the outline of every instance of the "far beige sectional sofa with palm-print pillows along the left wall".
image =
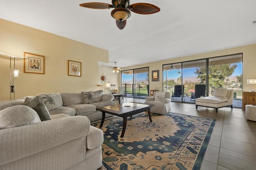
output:
M103 94L103 90L98 90L93 93L93 100L85 102L83 93L41 93L36 97L42 100L46 105L50 115L56 115L60 113L66 113L70 116L83 115L87 116L92 122L102 118L102 112L97 111L96 108L116 105L113 95ZM27 96L28 98L33 98L34 96ZM0 102L0 110L16 105L24 105L27 97L7 100ZM106 114L106 117L111 116Z

